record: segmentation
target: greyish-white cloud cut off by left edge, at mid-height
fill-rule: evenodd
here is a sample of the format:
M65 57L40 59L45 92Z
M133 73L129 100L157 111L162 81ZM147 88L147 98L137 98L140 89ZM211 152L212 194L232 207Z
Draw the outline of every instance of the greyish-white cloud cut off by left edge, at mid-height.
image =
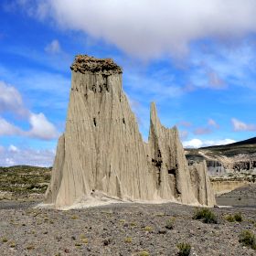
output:
M19 91L4 81L0 81L0 112L15 112L17 115L27 114Z

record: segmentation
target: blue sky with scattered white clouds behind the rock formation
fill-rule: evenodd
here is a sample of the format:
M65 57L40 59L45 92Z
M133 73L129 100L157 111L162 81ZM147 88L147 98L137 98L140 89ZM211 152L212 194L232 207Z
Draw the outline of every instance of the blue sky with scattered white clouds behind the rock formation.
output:
M185 146L256 132L256 2L2 0L0 165L52 165L77 54L112 58L144 140L150 102Z

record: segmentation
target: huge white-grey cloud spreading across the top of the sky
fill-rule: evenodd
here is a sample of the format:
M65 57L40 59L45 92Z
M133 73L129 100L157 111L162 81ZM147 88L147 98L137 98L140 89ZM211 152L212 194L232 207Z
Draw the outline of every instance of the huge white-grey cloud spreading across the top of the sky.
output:
M61 27L82 30L145 59L185 53L196 39L256 31L254 0L41 0L36 6L35 1L22 2L29 15L51 16Z

